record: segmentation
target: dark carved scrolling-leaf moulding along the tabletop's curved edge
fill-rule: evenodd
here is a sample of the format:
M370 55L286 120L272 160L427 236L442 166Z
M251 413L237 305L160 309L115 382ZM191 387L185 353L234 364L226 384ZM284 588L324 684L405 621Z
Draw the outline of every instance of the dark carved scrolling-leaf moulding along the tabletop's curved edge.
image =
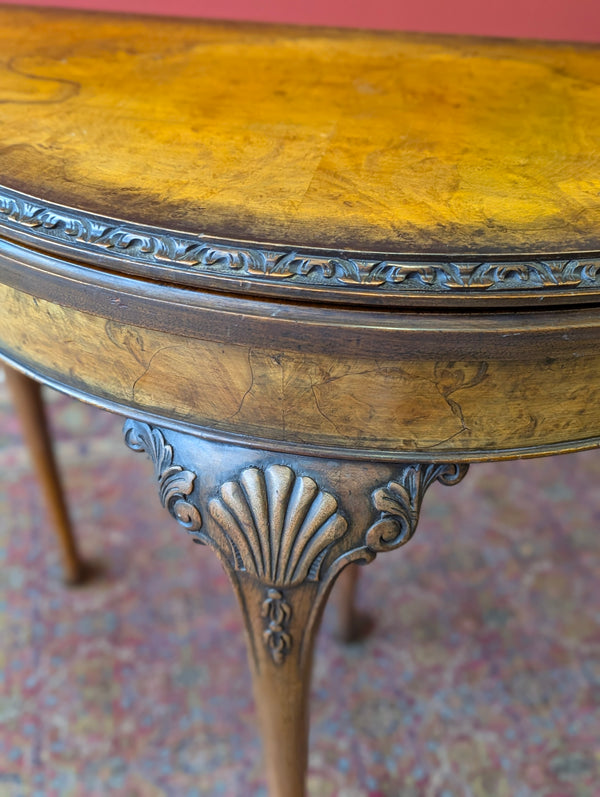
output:
M202 236L115 224L6 189L0 192L0 225L40 239L140 263L225 277L288 281L323 287L382 288L397 293L600 288L600 258L418 262L332 257L293 249L258 249Z

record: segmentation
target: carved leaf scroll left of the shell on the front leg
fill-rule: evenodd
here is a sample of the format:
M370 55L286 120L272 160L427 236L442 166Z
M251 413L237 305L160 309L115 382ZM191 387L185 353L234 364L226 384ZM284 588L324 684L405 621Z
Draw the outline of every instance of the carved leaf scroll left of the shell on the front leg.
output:
M188 531L202 528L199 509L189 500L196 474L173 464L173 448L160 429L139 421L125 421L125 442L133 451L145 451L154 463L162 505Z

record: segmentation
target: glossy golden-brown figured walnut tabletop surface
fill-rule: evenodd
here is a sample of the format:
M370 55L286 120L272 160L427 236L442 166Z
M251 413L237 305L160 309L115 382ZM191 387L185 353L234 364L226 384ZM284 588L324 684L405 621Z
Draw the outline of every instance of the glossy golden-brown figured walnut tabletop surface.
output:
M159 227L600 249L600 49L0 9L0 184Z

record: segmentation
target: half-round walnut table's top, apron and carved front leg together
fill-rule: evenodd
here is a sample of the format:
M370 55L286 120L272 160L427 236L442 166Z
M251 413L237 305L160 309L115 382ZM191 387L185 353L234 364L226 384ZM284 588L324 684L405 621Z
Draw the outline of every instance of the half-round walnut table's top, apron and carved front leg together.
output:
M2 357L129 418L300 797L342 569L598 445L600 50L4 8L0 53Z

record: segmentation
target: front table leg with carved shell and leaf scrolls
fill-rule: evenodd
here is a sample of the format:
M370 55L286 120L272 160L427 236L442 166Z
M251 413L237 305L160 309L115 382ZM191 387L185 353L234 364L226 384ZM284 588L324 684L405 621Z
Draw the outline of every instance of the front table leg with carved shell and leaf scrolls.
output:
M434 481L467 465L336 462L213 443L138 421L164 507L212 548L238 597L271 797L304 797L315 637L342 570L413 535ZM350 576L352 583L352 576Z

